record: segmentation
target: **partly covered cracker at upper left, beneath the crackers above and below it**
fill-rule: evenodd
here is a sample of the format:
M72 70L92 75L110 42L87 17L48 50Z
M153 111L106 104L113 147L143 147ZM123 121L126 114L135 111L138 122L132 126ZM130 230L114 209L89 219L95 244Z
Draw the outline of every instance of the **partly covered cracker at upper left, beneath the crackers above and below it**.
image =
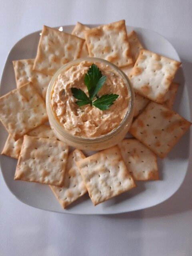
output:
M34 59L14 60L13 66L17 88L20 88L28 82L32 82L38 93L45 100L47 88L52 77L34 71Z

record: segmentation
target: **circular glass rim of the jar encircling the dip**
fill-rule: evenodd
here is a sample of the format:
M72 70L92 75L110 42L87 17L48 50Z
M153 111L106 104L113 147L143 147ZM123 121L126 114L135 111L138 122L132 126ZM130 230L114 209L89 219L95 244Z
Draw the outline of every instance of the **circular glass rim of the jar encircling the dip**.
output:
M58 78L58 75L61 72L63 72L64 70L68 69L70 66L73 66L75 64L78 64L78 63L84 62L84 61L85 62L86 61L93 62L93 63L100 62L100 63L104 63L104 64L112 67L125 80L126 87L128 90L128 95L130 96L129 103L128 103L128 110L127 110L123 120L120 122L120 124L114 130L108 132L107 134L103 134L103 135L100 135L97 137L91 137L91 138L74 136L74 135L70 134L69 132L67 132L65 130L65 128L62 126L62 124L56 119L55 114L51 107L52 90L54 88L54 83L55 83L56 79ZM120 68L118 68L113 63L108 62L107 60L103 60L100 58L94 58L94 57L79 58L76 60L72 60L72 61L68 62L67 64L65 64L64 66L62 66L59 70L56 71L56 73L50 80L50 83L49 83L48 89L47 89L47 93L46 93L46 108L47 108L47 112L50 113L50 115L48 115L49 119L51 119L50 122L52 123L52 125L55 126L56 130L60 133L61 136L66 137L68 140L71 140L72 142L77 142L77 143L81 143L81 144L94 144L94 143L98 143L101 140L102 140L102 142L104 142L104 141L114 137L118 132L120 132L122 130L122 128L124 127L124 125L126 125L128 120L130 118L132 118L133 112L134 112L134 90L133 90L130 80L128 79L126 74L124 74L124 72L122 70L120 70Z

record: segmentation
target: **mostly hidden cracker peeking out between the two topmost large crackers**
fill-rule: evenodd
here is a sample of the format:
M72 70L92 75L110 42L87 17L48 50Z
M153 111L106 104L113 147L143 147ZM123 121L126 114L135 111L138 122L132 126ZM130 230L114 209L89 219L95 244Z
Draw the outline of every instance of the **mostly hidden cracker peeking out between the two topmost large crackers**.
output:
M77 24L74 26L74 29L73 29L71 34L85 39L84 31L89 30L89 29L90 29L89 27L83 25L80 22L77 22ZM86 42L84 42L83 48L82 48L82 51L81 51L81 54L80 54L80 58L85 58L85 57L89 57Z

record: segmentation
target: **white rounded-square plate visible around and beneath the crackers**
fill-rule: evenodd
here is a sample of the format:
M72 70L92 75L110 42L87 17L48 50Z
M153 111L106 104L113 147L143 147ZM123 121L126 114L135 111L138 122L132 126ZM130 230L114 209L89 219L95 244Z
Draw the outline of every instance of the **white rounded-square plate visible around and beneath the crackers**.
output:
M93 26L95 25L90 25L90 27ZM63 26L63 31L70 33L73 27ZM127 26L128 32L133 29L137 32L138 37L146 49L180 61L174 47L163 36L143 28ZM35 58L39 37L40 31L29 34L18 41L10 51L1 79L1 96L16 88L12 60ZM189 120L189 100L182 68L179 69L175 82L179 82L181 85L177 92L174 110ZM0 124L0 150L2 150L7 136L8 134L5 128ZM63 210L47 185L13 180L17 163L16 159L1 155L0 167L10 191L20 201L30 206L72 214L116 214L131 212L159 204L178 190L188 168L188 157L190 155L189 136L190 132L187 132L172 149L170 154L168 154L168 157L163 160L158 159L160 180L137 182L137 188L95 207L86 194L74 202L68 209Z

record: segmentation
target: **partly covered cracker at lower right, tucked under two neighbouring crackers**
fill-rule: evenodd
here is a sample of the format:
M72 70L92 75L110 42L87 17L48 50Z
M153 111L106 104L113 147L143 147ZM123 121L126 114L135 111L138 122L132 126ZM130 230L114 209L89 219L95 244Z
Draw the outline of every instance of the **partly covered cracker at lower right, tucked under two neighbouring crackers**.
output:
M124 139L118 144L127 169L134 180L158 180L156 155L136 139Z

